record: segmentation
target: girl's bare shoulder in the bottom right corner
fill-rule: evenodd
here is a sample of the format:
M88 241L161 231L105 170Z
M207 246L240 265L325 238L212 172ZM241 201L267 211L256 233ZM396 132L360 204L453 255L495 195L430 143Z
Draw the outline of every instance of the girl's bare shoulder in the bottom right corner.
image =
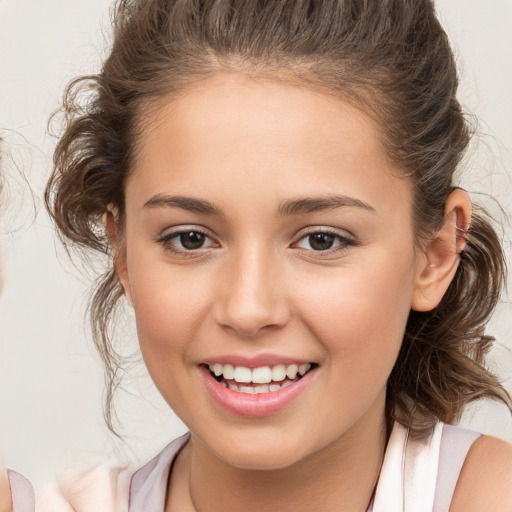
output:
M491 436L468 452L453 495L452 512L512 511L512 445Z

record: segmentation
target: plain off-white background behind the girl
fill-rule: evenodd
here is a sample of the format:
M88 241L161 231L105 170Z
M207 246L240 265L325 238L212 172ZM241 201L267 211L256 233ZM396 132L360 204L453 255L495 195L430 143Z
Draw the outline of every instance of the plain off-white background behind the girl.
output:
M492 200L476 192L497 198L511 215L512 2L438 0L437 6L455 46L460 97L480 121L461 184L491 208ZM98 70L109 7L108 0L0 0L0 126L9 181L1 240L0 462L35 480L105 458L139 464L185 431L136 356L118 397L124 438L106 429L102 369L84 323L87 275L56 243L40 199L55 143L49 115L71 78ZM510 224L504 230L510 237ZM505 246L510 260L508 238ZM509 300L491 322L498 337L491 364L512 391ZM123 336L136 351L130 312ZM462 423L512 442L503 406L480 404Z

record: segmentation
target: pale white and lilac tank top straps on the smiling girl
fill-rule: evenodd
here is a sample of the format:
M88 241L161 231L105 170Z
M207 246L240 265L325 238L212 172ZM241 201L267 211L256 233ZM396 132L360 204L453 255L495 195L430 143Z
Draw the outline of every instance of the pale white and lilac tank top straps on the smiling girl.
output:
M438 423L430 436L412 438L396 423L368 512L447 512L467 452L480 435ZM164 512L172 464L188 439L176 439L133 475L128 512Z

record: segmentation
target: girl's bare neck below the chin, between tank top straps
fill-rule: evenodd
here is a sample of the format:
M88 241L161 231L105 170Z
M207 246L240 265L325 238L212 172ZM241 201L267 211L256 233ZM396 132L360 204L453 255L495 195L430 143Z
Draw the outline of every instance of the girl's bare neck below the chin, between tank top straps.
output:
M305 512L312 504L325 512L366 511L387 439L383 411L371 416L321 450L275 470L233 467L192 438L173 469L167 511Z

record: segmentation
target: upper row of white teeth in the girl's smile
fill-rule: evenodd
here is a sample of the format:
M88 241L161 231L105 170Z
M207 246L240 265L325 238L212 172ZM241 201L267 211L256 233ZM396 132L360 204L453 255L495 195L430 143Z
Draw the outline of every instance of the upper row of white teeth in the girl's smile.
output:
M254 384L268 384L269 382L281 382L287 377L291 380L297 377L297 374L304 375L310 368L308 364L278 364L276 366L258 366L257 368L247 368L246 366L232 366L230 364L210 364L210 371L217 377L223 376L226 380L236 382L253 382Z

